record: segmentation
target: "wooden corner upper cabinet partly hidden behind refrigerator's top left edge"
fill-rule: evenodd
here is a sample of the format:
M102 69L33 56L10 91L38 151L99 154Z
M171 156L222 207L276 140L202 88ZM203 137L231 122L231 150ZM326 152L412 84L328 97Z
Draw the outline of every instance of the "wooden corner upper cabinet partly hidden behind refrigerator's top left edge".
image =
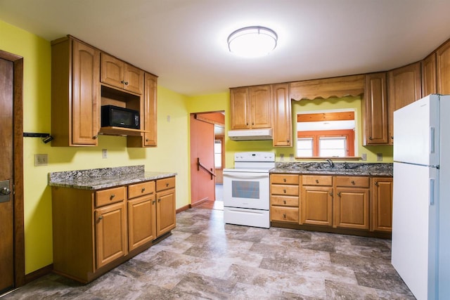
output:
M420 80L420 62L399 67L387 72L389 112L388 124L389 143L394 141L394 111L422 98L422 84Z

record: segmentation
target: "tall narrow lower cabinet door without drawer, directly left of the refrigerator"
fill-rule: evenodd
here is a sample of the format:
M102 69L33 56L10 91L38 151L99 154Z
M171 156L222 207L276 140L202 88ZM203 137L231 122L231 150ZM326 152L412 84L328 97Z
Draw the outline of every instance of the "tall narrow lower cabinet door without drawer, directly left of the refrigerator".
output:
M392 231L392 178L372 178L371 230Z

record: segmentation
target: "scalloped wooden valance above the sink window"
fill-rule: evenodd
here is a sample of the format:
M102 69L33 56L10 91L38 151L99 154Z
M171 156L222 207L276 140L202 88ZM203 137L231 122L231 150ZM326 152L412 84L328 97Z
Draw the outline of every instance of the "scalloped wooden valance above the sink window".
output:
M290 83L290 98L299 101L302 99L360 96L364 94L365 84L366 77L364 74L295 81Z

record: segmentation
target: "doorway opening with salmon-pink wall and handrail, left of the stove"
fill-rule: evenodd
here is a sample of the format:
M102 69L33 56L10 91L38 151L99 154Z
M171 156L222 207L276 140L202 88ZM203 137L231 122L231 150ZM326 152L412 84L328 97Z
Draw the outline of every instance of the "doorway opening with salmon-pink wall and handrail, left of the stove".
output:
M223 209L225 113L191 114L191 205Z

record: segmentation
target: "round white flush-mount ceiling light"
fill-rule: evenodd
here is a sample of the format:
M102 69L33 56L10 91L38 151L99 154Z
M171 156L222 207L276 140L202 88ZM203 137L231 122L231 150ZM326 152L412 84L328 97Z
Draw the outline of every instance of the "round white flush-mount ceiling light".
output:
M228 37L230 52L239 56L266 56L276 47L278 36L274 30L262 26L240 28Z

